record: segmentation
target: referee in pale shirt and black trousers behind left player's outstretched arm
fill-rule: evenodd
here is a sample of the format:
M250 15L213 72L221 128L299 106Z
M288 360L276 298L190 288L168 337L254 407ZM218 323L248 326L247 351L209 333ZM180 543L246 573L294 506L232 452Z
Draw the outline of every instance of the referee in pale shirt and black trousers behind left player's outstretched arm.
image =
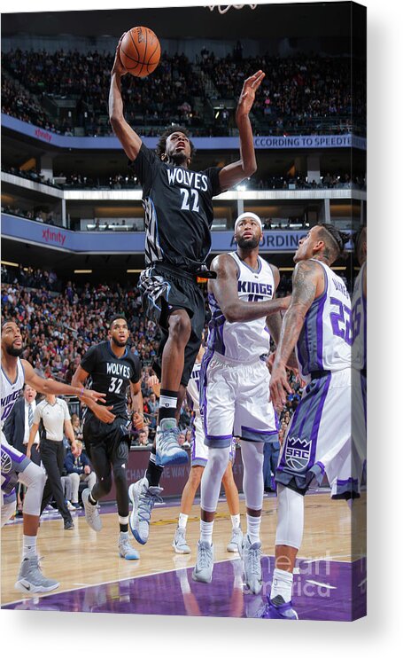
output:
M41 403L36 405L34 424L29 433L27 457L30 455L41 420L43 421L45 436L40 441L40 452L43 466L48 475L43 490L41 513L43 513L46 505L50 503L51 498L54 497L56 505L58 505L58 511L65 522L65 530L73 530L74 522L71 513L67 509L61 483L61 474L66 454L63 433L71 443L72 452L74 453L76 451L74 430L65 400L49 394L45 396L45 399Z

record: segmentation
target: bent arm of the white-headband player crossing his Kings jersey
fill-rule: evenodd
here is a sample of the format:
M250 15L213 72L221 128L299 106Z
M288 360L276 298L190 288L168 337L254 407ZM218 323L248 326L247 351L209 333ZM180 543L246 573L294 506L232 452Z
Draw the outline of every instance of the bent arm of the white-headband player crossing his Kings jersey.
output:
M250 322L288 308L290 300L284 297L268 302L240 300L236 262L229 255L216 256L210 269L216 272L217 278L209 281L208 289L213 293L228 322Z

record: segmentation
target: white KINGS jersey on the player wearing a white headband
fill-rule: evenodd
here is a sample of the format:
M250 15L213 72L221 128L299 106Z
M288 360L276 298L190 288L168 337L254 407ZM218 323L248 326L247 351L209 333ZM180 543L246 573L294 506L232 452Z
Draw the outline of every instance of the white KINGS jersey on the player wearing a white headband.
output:
M252 270L236 252L232 256L238 270L238 297L243 302L267 302L275 294L275 279L270 265L258 256L258 270ZM233 361L250 363L270 351L266 317L250 322L228 322L213 294L208 294L212 319L208 325L209 350Z

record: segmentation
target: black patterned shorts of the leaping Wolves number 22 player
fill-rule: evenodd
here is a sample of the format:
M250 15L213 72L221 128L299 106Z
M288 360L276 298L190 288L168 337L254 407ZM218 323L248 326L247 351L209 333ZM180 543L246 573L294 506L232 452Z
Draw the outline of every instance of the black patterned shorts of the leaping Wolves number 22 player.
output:
M143 309L161 332L159 353L152 364L154 372L161 378L161 358L168 338L167 320L175 309L185 309L190 317L191 333L185 348L182 386L188 386L190 373L198 356L205 326L205 298L196 277L174 270L168 265L152 265L143 270L138 284L143 294Z

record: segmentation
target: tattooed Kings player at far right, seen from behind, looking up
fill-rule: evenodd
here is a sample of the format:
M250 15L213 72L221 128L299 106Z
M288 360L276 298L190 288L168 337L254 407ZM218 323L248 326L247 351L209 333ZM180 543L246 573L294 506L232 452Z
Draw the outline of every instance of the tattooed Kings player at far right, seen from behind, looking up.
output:
M304 496L326 473L332 497L353 497L351 477L353 342L350 296L330 265L348 236L317 224L294 255L292 296L275 353L270 395L282 407L291 388L285 363L294 348L306 381L284 438L277 482L275 571L265 618L298 619L292 607L293 569L304 528ZM346 472L350 476L345 477Z

